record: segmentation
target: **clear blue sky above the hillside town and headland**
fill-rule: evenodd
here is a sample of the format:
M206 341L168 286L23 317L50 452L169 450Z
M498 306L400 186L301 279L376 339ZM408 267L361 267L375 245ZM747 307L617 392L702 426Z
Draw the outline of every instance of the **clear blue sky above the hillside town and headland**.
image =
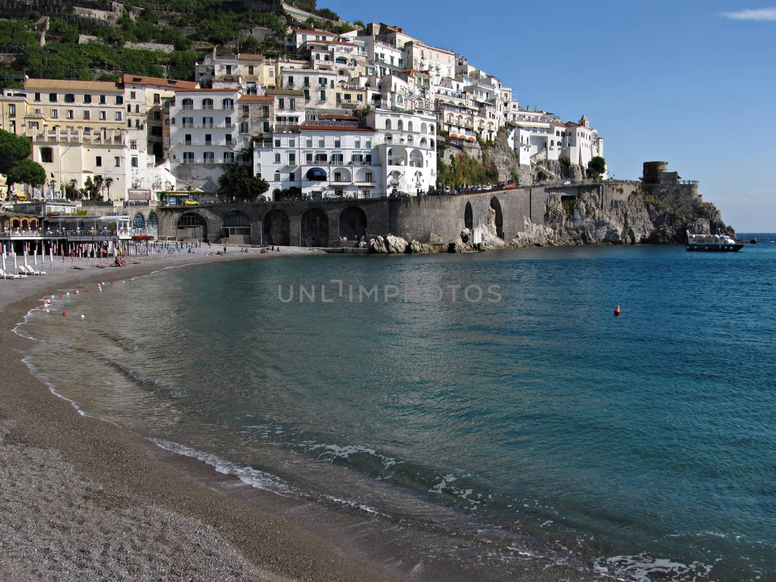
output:
M615 178L666 160L737 230L776 231L776 2L317 4L454 50L521 106L584 113Z

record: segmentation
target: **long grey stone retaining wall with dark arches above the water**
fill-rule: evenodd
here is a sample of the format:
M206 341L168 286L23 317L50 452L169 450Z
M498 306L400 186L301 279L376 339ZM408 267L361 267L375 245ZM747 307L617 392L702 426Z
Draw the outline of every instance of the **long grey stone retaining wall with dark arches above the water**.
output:
M161 236L232 244L339 247L378 234L394 234L407 241L454 241L465 227L473 230L477 242L476 233L487 228L492 209L497 236L509 241L524 230L526 218L544 223L549 192L579 196L582 189L600 194L602 205L604 197L610 197L598 185L526 187L459 196L161 206L155 212Z

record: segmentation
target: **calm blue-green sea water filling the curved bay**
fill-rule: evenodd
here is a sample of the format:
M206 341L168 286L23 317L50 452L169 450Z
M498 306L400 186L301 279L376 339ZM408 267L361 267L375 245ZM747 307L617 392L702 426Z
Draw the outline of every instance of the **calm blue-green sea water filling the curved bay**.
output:
M776 580L756 236L174 268L18 331L81 411L255 487L626 580Z

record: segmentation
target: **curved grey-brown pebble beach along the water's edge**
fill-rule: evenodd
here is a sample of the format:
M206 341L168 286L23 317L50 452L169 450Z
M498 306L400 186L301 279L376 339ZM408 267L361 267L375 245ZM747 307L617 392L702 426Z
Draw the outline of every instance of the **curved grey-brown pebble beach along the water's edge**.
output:
M323 253L296 249L292 256L317 254ZM280 256L289 253L212 258L183 254L127 265L120 272L127 279L174 266ZM0 525L5 530L0 535L0 578L594 579L592 573L548 567L552 565L547 560L525 556L504 570L452 559L424 562L424 546L445 543L433 528L398 525L358 510L257 490L113 423L79 414L22 362L19 354L31 340L12 327L47 293L107 279L102 271L71 269L0 282L5 328L0 345L6 356L0 360L6 380L0 387L0 483L15 485L2 487L10 493L0 496L9 516ZM109 269L113 277L115 272ZM132 543L126 543L127 532ZM96 552L101 543L102 552ZM485 546L460 538L446 543L466 546L473 555Z

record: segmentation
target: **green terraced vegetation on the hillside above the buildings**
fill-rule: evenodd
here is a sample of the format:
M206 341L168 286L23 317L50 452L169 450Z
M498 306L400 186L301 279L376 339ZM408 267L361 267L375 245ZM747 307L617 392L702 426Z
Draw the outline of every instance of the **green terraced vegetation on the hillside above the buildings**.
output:
M285 53L288 26L335 33L352 29L331 10L317 9L314 0L296 2L300 9L321 16L304 23L283 12L279 2L250 2L248 9L241 2L220 0L133 0L131 5L76 0L36 5L40 12L20 0L9 5L4 15L9 19L0 20L0 73L30 78L113 81L127 73L190 79L195 62L213 46L274 57ZM117 8L109 20L83 12L109 11L111 6ZM41 47L43 16L49 18L49 28ZM98 40L78 44L79 35ZM174 50L143 50L126 43L161 43Z

